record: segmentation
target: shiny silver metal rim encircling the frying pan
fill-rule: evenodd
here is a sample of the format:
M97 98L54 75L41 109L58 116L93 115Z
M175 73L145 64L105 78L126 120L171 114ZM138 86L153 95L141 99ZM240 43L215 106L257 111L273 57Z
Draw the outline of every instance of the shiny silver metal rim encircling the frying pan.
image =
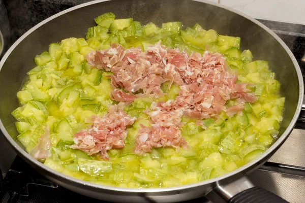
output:
M113 0L96 0L96 1L92 1L92 2L88 2L88 3L84 3L75 7L72 7L70 9L67 9L65 11L59 12L45 20L43 20L42 22L38 23L37 25L35 25L34 27L32 27L31 29L29 29L27 32L25 32L10 48L9 50L6 52L6 54L3 56L2 60L0 61L0 74L1 74L1 69L6 61L6 59L8 58L8 56L10 55L10 53L17 47L17 45L23 40L25 39L30 33L32 33L33 31L35 31L37 28L39 28L40 26L46 24L47 22L53 20L54 18L57 18L58 16L64 15L66 13L69 13L71 11L77 10L79 8L82 7L86 7L86 6L90 6L90 5L94 5L94 4L98 4L98 3L103 3L103 2L108 2L108 1L113 1ZM114 0L115 1L115 0ZM258 26L262 27L266 32L268 32L273 38L275 38L280 45L286 50L286 52L288 53L289 57L291 58L296 73L297 73L297 77L298 77L298 82L299 82L299 99L298 99L298 104L297 104L297 109L294 113L294 116L290 122L290 124L288 125L287 129L283 132L283 134L281 135L281 137L275 142L273 143L273 145L267 149L263 154L261 154L259 157L257 157L256 159L252 160L251 162L237 168L236 170L229 172L225 175L219 176L217 178L213 178L213 179L209 179L206 181L202 181L202 182L197 182L197 183L192 183L192 184L187 184L187 185L182 185L182 186L175 186L175 187L167 187L167 188L143 188L143 189L135 189L135 188L120 188L120 187L114 187L114 186L105 186L105 185L101 185L101 184L97 184L97 183L90 183L90 182L86 182L83 180L79 180L76 179L74 177L71 176L67 176L64 175L62 173L59 173L55 170L53 170L52 168L44 165L43 163L39 162L38 160L34 159L32 156L30 156L27 152L25 152L10 136L10 134L8 133L8 131L6 130L6 128L4 127L2 120L0 119L0 129L2 130L5 138L8 140L8 142L10 143L10 145L12 145L12 147L14 147L14 149L18 152L19 155L22 155L23 158L25 158L28 162L32 162L33 164L35 164L35 167L40 167L43 168L43 170L45 172L47 172L48 174L53 174L57 177L60 177L61 180L66 180L69 182L74 182L77 183L79 186L90 186L93 187L95 189L102 189L102 190L109 190L109 191L115 191L115 192L131 192L131 193L155 193L155 192L170 192L170 191L177 191L177 190L186 190L186 189L190 189L190 188L194 188L194 187L199 187L199 186L203 186L203 185L208 185L208 184L212 184L212 183L218 183L221 182L225 179L228 179L229 177L232 176L237 176L238 174L244 174L243 172L247 171L248 168L250 168L253 165L256 165L260 160L262 160L263 158L265 158L266 156L268 156L269 153L271 153L272 151L276 150L278 147L281 146L281 144L283 144L285 142L285 140L288 138L290 132L292 131L292 129L294 128L294 125L297 121L297 118L299 117L300 114L300 110L301 110L301 105L302 105L302 101L303 101L303 94L304 94L304 90L303 90L303 78L302 78L302 74L301 74L301 70L300 67L297 63L296 58L294 57L294 55L292 54L291 50L288 48L288 46L276 35L276 33L274 33L272 30L270 30L268 27L266 27L265 25L263 25L261 22L259 22L258 20L243 14L239 11L236 11L234 9L231 9L229 7L220 5L220 4L216 4L216 3L212 3L212 2L208 2L206 0L189 0L189 1L194 1L194 2L200 2L200 3L204 3L204 4L208 4L208 5L213 5L216 7L220 7L223 9L226 9L230 12L233 12L235 14L238 14L250 21L252 21L253 23L257 24Z

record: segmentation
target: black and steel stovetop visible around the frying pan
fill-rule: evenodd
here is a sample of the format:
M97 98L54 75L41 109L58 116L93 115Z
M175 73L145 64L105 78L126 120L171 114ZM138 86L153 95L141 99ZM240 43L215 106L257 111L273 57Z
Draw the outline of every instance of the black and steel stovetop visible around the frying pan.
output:
M18 39L26 30L50 15L74 6L75 4L87 1L78 0L75 4L72 4L72 1L65 0L64 2L66 4L61 5L58 3L59 1L55 0L24 0L24 3L31 2L32 4L25 6L25 9L33 14L27 21L25 19L23 19L25 21L20 20L20 18L25 18L22 14L24 11L20 8L20 6L24 6L25 4L20 5L20 2L15 0L5 1L10 22L14 24L12 26L13 41ZM36 5L33 2L36 2ZM14 15L16 11L13 11L15 8L18 8L20 11L17 17ZM48 12L45 12L46 10ZM30 15L26 16L28 18ZM19 19L19 24L15 24L17 19ZM304 78L305 25L267 20L259 21L276 32L288 45L301 67ZM28 23L23 24L23 22ZM305 203L305 155L303 153L303 146L305 146L305 122L298 122L296 128L292 131L283 146L259 170L252 173L250 179L255 185L276 193L291 203ZM4 177L2 178L0 176L1 202L61 203L74 200L90 201L93 203L105 202L74 193L44 178L31 168L31 166L27 165L19 156L16 157L16 153L9 147L1 132L0 149L0 170ZM188 201L188 203L203 202L208 202L208 200L202 197Z

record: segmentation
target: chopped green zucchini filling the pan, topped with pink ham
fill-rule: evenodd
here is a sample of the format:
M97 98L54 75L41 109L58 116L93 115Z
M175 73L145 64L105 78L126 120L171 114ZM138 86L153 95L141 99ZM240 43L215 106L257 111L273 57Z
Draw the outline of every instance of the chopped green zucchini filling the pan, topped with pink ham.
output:
M239 37L219 35L216 30L205 30L199 24L182 29L182 23L178 21L158 24L161 27L150 22L142 27L132 18L115 19L113 13L104 13L94 20L97 25L88 28L85 38L67 38L60 43L51 43L48 52L37 55L37 66L26 73L28 78L17 93L20 107L12 115L20 133L17 141L27 152L38 146L45 127L49 127L51 157L45 159L45 165L65 175L103 185L172 187L234 171L260 156L277 139L285 106L285 98L280 97L280 83L276 74L269 70L267 61L253 61L250 50L240 49ZM109 55L115 50L104 50L113 43L125 49L119 57L116 57L118 53L114 57ZM160 43L162 48L155 49L156 43ZM115 85L128 91L126 82L114 79L128 76L105 71L105 61L109 59L114 64L111 70L133 67L130 59L134 58L126 60L126 56L134 52L133 47L149 50L147 60L150 64L153 61L165 65L172 63L177 59L175 56L180 56L178 52L184 51L189 56L189 68L201 67L199 72L190 74L184 64L176 65L176 73L187 85L183 88L195 90L192 85L198 86L197 82L200 83L200 92L201 88L204 89L204 95L198 92L185 100L176 100L171 108L179 107L182 101L188 109L200 109L203 118L189 118L184 115L184 107L179 107L177 114L183 116L177 120L180 123L177 127L163 122L168 119L166 114L153 118L153 112L151 115L147 113L154 108L166 111L163 105L172 104L184 94L180 91L182 86L177 85L176 76L174 81L169 81L172 76L167 75L167 67L165 75L154 73L156 70L145 70L144 75L142 69L128 72L129 75L138 75L139 82L146 81L146 72L151 76L148 83L155 83L155 75L160 76L162 95L145 95L145 88L141 88L134 92L137 98L132 102L118 103L112 98ZM223 57L205 51L218 52ZM192 52L204 56L198 60L199 55L191 56ZM142 63L138 57L135 61L137 65ZM218 73L220 64L224 69ZM209 76L211 79L220 76L221 82L225 80L225 87L218 84L219 80L217 83L209 81ZM131 82L132 86L137 85ZM238 86L238 83L247 83L247 86ZM214 89L218 85L224 90L219 94ZM151 93L154 92L155 89ZM254 94L257 100L247 102L251 97L249 94ZM206 109L202 98L209 95L213 95L214 100ZM245 108L228 116L226 110L238 104ZM107 114L108 105L118 105L119 111ZM219 105L225 107L220 113ZM124 125L127 117L120 112L121 109L130 117L137 118L132 126ZM125 115L124 118L118 119L121 115ZM101 117L101 122L94 124L93 116ZM156 121L158 119L160 122ZM143 126L150 129L143 129ZM78 133L81 130L86 132ZM144 155L135 154L140 148L145 151ZM106 158L109 161L103 160Z

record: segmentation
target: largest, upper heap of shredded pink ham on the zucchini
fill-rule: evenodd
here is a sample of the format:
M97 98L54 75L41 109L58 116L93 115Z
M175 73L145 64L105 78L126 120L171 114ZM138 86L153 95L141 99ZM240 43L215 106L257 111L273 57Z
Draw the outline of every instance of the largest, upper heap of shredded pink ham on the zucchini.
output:
M141 95L161 96L160 86L165 81L169 81L168 88L171 84L186 86L187 91L179 96L193 96L191 108L196 112L207 111L210 116L225 111L225 101L230 98L242 97L251 103L256 100L246 87L250 84L235 84L236 75L219 53L205 51L203 56L195 52L188 55L178 49L166 49L160 43L143 52L140 48L125 50L121 45L112 44L109 49L90 52L86 59L98 69L111 71L112 86L124 88L129 95L143 92ZM119 96L112 92L114 100L125 100ZM128 96L128 101L132 101L132 96ZM198 118L203 117L206 115Z

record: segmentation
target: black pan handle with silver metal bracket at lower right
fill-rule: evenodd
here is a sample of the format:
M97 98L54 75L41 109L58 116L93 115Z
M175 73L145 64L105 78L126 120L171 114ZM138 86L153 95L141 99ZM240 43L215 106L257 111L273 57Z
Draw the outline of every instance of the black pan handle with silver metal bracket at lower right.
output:
M247 176L218 184L206 197L215 203L287 203L288 201L260 187L255 187Z

